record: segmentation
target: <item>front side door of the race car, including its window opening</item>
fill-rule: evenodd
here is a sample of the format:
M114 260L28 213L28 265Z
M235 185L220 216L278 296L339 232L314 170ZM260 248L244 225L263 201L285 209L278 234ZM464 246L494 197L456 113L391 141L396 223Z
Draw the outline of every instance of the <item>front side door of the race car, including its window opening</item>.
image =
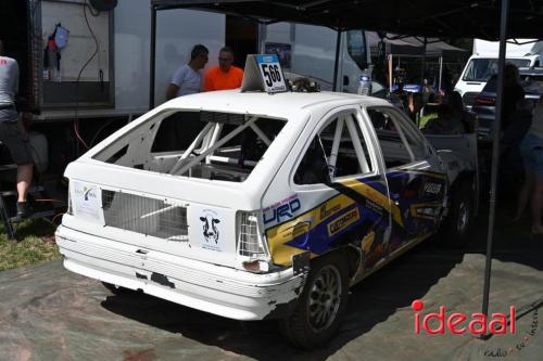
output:
M447 189L441 163L415 125L392 106L368 107L392 202L390 249L422 240L439 225Z

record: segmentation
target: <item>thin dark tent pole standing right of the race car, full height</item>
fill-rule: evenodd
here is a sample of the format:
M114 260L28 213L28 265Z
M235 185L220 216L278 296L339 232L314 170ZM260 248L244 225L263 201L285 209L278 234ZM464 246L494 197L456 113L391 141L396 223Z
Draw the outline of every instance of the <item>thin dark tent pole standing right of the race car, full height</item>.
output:
M487 238L487 262L484 265L484 285L482 295L482 313L489 315L490 274L492 269L492 238L494 233L494 220L496 211L496 183L497 168L500 165L500 129L502 124L503 100L504 100L504 68L505 68L505 41L507 34L507 13L509 0L502 0L502 16L500 21L500 53L497 60L497 93L496 93L496 119L492 129L492 173L489 209L489 232ZM484 336L484 335L483 335Z

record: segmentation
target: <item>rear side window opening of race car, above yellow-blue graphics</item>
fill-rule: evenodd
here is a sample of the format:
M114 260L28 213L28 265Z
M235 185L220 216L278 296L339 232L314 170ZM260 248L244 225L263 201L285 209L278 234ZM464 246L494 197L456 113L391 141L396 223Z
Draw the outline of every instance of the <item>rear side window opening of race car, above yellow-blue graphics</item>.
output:
M296 184L326 183L374 170L365 138L352 114L330 121L312 140L296 172Z

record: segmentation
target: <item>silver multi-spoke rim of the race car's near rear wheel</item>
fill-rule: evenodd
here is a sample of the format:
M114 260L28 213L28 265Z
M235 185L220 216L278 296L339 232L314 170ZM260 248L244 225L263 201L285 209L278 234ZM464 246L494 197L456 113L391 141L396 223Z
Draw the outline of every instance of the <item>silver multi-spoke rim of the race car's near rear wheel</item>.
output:
M341 302L341 275L333 266L326 266L313 280L307 302L310 325L315 332L328 328Z

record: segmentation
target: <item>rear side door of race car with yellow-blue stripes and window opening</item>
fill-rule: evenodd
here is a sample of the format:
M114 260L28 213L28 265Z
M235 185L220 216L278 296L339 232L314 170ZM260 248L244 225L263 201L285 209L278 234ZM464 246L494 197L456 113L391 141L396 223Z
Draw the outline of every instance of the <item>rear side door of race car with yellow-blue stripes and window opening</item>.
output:
M354 244L375 265L387 246L390 202L375 139L364 127L359 107L336 111L308 137L293 172L301 204L312 204L304 235L289 246L323 254ZM301 223L290 224L302 228Z

